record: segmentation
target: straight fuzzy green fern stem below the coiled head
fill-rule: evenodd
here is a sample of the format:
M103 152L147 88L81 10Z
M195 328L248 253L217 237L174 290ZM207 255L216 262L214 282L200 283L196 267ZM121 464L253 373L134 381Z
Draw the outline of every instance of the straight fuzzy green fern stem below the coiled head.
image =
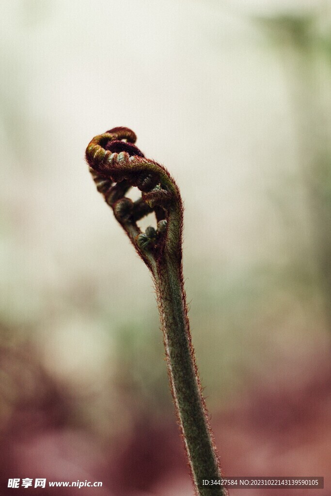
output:
M201 395L191 344L180 262L164 257L153 267L170 385L176 413L199 496L225 496L220 486L203 487L203 479L221 477L221 468Z

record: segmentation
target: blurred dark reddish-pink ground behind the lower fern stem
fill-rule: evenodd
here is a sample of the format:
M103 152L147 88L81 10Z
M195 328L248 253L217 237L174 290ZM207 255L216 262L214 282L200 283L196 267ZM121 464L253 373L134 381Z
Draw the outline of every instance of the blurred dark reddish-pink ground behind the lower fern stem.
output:
M31 356L31 355L30 355ZM211 424L229 476L324 476L324 490L232 490L248 496L331 496L331 367L327 356L305 379L256 383ZM312 360L312 363L315 363ZM76 398L24 353L3 355L4 416L1 495L29 494L7 488L8 478L102 481L97 489L31 489L33 494L104 496L193 495L175 416L157 423L153 411L132 412L127 437L105 448L72 416ZM306 371L307 372L307 371ZM10 387L9 387L10 386ZM113 420L110 420L114 422ZM106 442L106 445L108 443ZM285 494L286 493L286 494Z

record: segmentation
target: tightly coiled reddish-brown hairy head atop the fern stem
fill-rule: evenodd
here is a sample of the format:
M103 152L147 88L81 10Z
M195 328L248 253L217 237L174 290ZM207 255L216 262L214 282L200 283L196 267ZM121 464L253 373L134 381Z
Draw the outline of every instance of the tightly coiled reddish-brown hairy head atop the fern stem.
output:
M134 141L135 134L131 129L115 127L92 139L86 149L86 160L100 192L151 269L153 259L136 243L136 237L141 234L137 221L153 211L157 222L171 220L172 229L155 243L154 257L169 255L181 259L183 206L179 189L168 171L157 162L146 159ZM129 212L119 200L125 198L132 186L142 191L142 197L133 202Z

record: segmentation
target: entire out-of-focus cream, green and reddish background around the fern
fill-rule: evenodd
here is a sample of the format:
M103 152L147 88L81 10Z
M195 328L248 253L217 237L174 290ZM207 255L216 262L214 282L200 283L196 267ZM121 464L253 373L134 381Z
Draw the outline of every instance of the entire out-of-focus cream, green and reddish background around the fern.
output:
M225 474L331 495L330 27L318 0L1 2L1 495L193 494L150 275L84 162L119 125L185 201Z

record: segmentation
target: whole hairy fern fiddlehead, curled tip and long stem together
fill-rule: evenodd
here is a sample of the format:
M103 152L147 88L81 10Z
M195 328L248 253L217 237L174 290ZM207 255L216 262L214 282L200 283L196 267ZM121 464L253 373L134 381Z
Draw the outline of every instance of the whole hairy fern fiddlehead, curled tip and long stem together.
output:
M203 479L221 477L221 466L201 394L191 342L182 271L183 204L169 172L147 159L134 145L131 129L114 127L95 136L86 149L90 172L132 245L152 273L168 365L170 387L198 496L225 496L220 486ZM141 197L126 197L135 186ZM157 229L144 233L137 221L154 212Z

